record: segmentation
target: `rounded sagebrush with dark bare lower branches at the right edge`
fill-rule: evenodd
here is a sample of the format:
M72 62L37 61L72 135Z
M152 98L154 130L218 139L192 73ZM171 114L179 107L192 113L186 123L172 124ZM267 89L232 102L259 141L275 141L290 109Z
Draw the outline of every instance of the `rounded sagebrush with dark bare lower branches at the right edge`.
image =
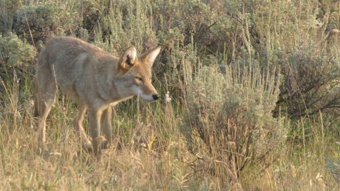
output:
M340 108L340 60L333 50L311 42L301 44L286 59L277 106L286 106L285 111L292 118L319 111L333 113Z

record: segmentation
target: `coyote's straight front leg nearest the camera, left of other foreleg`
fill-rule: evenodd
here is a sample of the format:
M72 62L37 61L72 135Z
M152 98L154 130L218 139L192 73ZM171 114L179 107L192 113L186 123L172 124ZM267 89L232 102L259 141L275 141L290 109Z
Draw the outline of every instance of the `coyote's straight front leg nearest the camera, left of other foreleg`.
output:
M101 145L105 142L105 138L100 136L100 118L102 111L93 108L88 110L88 120L90 134L92 138L93 153L99 159L101 157Z

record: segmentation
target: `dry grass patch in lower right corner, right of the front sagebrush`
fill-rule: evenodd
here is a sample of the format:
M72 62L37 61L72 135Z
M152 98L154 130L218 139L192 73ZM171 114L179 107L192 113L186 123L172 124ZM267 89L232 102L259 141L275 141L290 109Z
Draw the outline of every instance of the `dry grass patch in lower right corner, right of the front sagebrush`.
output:
M295 124L302 128L302 124ZM320 123L310 124L313 134L308 143L287 142L287 154L275 165L263 171L262 176L246 176L250 190L263 191L337 191L340 182L325 170L326 158L339 158L340 146L335 140L322 138L317 128ZM303 137L301 137L302 139ZM245 172L251 174L251 172ZM252 181L249 181L252 180ZM255 183L255 184L254 184ZM252 189L251 189L252 188Z

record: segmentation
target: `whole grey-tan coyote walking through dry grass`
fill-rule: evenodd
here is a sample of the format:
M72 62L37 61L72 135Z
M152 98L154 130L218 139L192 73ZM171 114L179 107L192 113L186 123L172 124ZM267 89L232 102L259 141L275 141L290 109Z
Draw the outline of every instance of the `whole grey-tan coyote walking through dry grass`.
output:
M160 97L151 84L151 68L160 50L157 47L137 56L131 46L118 58L78 38L51 38L36 64L34 116L40 117L39 145L46 141L45 121L59 87L77 104L73 125L82 146L100 157L101 149L111 144L112 106L135 95L147 101ZM86 110L92 144L82 125Z

